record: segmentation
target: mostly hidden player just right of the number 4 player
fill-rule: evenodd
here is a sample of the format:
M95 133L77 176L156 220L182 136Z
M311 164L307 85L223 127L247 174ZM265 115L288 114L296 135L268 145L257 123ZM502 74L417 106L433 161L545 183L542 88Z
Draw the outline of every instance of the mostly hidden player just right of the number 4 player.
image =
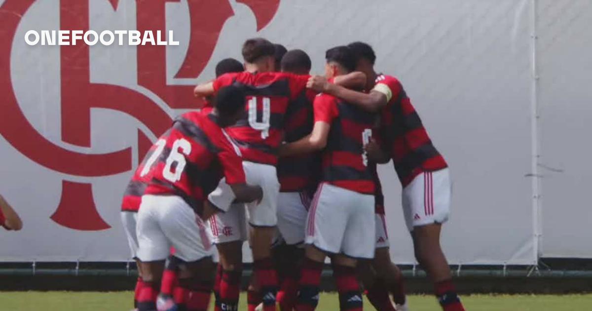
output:
M290 50L281 60L282 72L308 75L311 60L303 50ZM313 101L317 93L307 89L291 102L286 113L285 142L291 143L313 130ZM281 310L294 309L298 291L298 272L304 257L304 230L311 193L320 174L318 153L279 158L278 237L274 259L280 280L278 303Z

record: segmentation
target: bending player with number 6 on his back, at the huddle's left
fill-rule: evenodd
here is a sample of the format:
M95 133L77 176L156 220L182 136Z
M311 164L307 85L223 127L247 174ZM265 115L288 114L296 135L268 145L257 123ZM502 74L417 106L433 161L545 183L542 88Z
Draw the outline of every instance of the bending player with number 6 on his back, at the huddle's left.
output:
M140 311L156 309L170 246L175 247L174 256L182 263L179 286L188 292L186 310L207 309L213 262L203 220L217 210L205 200L204 185L223 174L233 200L262 197L259 186L246 184L242 159L222 130L234 124L243 109L242 90L236 86L221 89L210 114L195 111L176 118L144 163L142 173L150 179L141 197L136 226L137 258L146 283L139 295ZM218 174L208 174L211 171Z

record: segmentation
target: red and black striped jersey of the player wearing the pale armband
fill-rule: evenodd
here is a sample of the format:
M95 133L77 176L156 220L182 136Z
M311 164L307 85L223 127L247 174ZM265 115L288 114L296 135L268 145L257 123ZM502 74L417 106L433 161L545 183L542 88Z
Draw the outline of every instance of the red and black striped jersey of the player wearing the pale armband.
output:
M383 147L391 155L403 187L422 172L446 168L446 161L427 135L401 82L393 76L381 74L376 79L374 90L388 98L388 104L381 113L379 136Z

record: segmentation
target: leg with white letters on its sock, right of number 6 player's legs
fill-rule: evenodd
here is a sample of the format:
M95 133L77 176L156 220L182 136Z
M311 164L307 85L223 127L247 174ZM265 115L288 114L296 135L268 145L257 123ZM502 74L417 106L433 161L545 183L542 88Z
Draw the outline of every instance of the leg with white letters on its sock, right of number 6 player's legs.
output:
M222 276L220 279L220 301L215 310L237 310L239 307L240 277L243 272L243 241L216 244L220 255Z

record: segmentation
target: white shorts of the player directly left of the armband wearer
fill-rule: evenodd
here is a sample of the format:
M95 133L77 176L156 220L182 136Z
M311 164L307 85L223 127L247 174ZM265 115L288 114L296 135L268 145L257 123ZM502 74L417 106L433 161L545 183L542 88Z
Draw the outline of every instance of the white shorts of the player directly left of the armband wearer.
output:
M308 211L305 243L330 254L374 258L374 195L318 186Z

